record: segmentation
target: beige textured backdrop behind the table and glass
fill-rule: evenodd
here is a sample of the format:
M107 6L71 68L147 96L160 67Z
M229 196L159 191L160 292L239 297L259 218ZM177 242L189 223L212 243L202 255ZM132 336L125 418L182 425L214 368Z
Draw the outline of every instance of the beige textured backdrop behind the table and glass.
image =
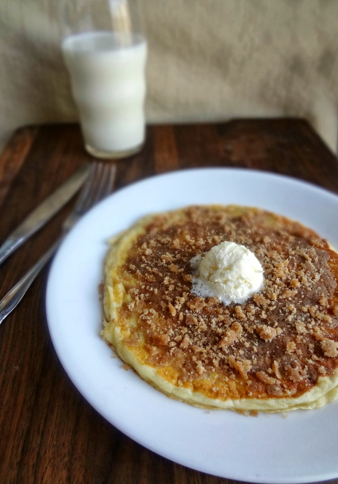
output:
M77 119L61 4L0 0L0 143L21 125ZM143 4L149 122L303 116L336 150L338 0Z

